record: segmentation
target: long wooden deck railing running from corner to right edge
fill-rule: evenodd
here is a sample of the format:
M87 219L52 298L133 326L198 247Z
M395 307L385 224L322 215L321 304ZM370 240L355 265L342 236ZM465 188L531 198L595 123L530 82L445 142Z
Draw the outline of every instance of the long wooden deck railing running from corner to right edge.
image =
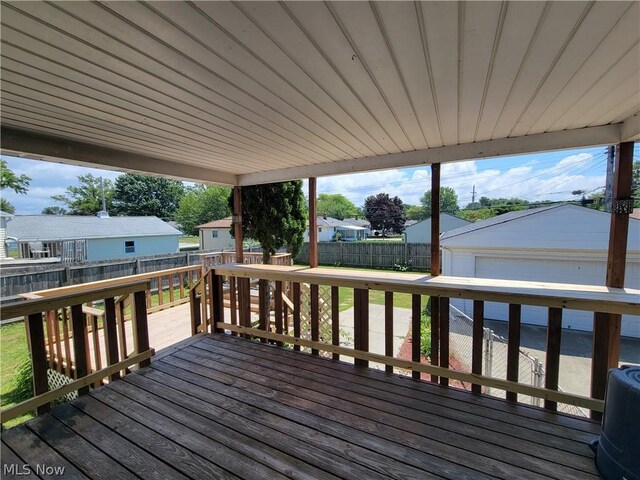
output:
M252 326L249 303L250 279L271 282L275 296L273 318L266 310L259 314L257 327ZM330 298L320 299L318 286L330 286ZM301 291L308 287L310 303L310 338L302 338ZM339 343L339 287L354 291L354 348ZM224 291L231 295L230 317L225 318ZM385 292L385 352L369 351L369 292ZM283 295L283 292L288 292ZM393 293L412 295L412 360L394 358L393 336L406 332L394 332ZM260 289L260 295L267 295ZM432 349L431 364L420 363L420 322L422 295L432 298ZM630 289L614 289L599 286L568 284L544 284L534 282L500 281L455 277L429 277L390 272L358 272L353 270L309 269L272 265L218 265L207 273L199 290L194 292L194 333L206 331L231 332L233 335L251 336L264 341L272 340L278 345L293 345L293 348L310 348L317 355L320 351L352 357L360 366L378 362L387 371L394 367L412 371L414 378L422 372L431 376L431 381L447 385L449 379L472 384L474 392L482 386L507 392L507 399L515 401L518 394L544 399L544 406L555 411L557 403L601 412L601 399L564 393L558 390L560 368L560 343L562 310L565 308L615 314L640 313L640 292ZM473 362L470 372L449 368L449 301L450 299L474 301ZM482 331L484 302L502 302L509 305L509 346L506 379L482 375ZM198 303L199 302L199 303ZM330 304L331 335L321 341L319 335L320 305ZM264 305L261 302L260 305ZM518 349L520 346L520 311L522 305L548 308L547 352L545 361L546 381L544 388L518 383ZM326 307L326 305L325 305ZM326 308L325 308L326 310ZM287 319L285 321L285 319ZM292 328L289 327L291 319ZM326 337L326 336L325 336ZM515 353L514 353L515 352Z

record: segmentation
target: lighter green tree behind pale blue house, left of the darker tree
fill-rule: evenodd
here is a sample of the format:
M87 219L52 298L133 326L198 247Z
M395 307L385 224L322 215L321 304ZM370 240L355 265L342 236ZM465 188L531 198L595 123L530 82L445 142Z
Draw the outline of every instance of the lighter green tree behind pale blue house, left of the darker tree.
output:
M90 173L78 175L78 185L67 187L66 195L53 195L51 198L67 207L71 215L95 215L102 210L102 187L100 177ZM104 197L107 211L112 211L113 183L104 180Z

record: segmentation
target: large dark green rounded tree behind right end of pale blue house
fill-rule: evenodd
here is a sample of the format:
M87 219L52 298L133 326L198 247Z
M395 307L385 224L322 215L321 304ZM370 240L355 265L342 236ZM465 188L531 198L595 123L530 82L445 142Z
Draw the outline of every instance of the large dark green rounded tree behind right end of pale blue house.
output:
M182 182L126 173L116 178L111 213L173 218L183 196Z

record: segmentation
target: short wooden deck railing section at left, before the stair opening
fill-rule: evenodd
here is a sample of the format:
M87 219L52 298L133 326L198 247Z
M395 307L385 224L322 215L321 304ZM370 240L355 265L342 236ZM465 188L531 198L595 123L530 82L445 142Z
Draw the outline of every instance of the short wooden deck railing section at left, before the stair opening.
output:
M44 413L49 409L50 403L60 397L75 391L78 395L84 395L91 385L97 387L107 378L115 380L121 374L125 374L127 368L132 365L137 364L139 367L148 365L149 358L154 353L149 348L145 304L145 292L149 288L147 281L120 283L3 306L0 319L25 317L35 396L2 410L0 422L4 423L32 410L37 410L38 414ZM134 348L133 352L122 355L118 347L115 305L118 297L128 295L133 296ZM102 317L104 349L98 348L101 339L98 335L97 323L87 323L87 313L83 311L83 305L96 301L104 302ZM54 348L53 339L64 339L64 341L56 342L57 347ZM63 343L67 359L65 368L74 380L60 388L50 390L48 373L51 357L62 355L60 349ZM91 345L94 347L94 354L98 356L94 364L96 366L93 368L91 367ZM100 358L101 351L104 352L104 358Z

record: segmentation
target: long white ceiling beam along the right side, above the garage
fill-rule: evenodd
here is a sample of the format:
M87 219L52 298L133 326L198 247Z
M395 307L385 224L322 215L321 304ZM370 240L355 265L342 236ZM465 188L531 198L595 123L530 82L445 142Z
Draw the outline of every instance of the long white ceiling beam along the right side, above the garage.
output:
M458 162L506 155L566 150L570 148L614 145L620 142L621 124L563 130L523 137L502 138L483 142L392 153L376 157L340 160L318 165L249 173L238 176L239 185L283 182L308 177L344 175L392 168L407 168L432 163Z

